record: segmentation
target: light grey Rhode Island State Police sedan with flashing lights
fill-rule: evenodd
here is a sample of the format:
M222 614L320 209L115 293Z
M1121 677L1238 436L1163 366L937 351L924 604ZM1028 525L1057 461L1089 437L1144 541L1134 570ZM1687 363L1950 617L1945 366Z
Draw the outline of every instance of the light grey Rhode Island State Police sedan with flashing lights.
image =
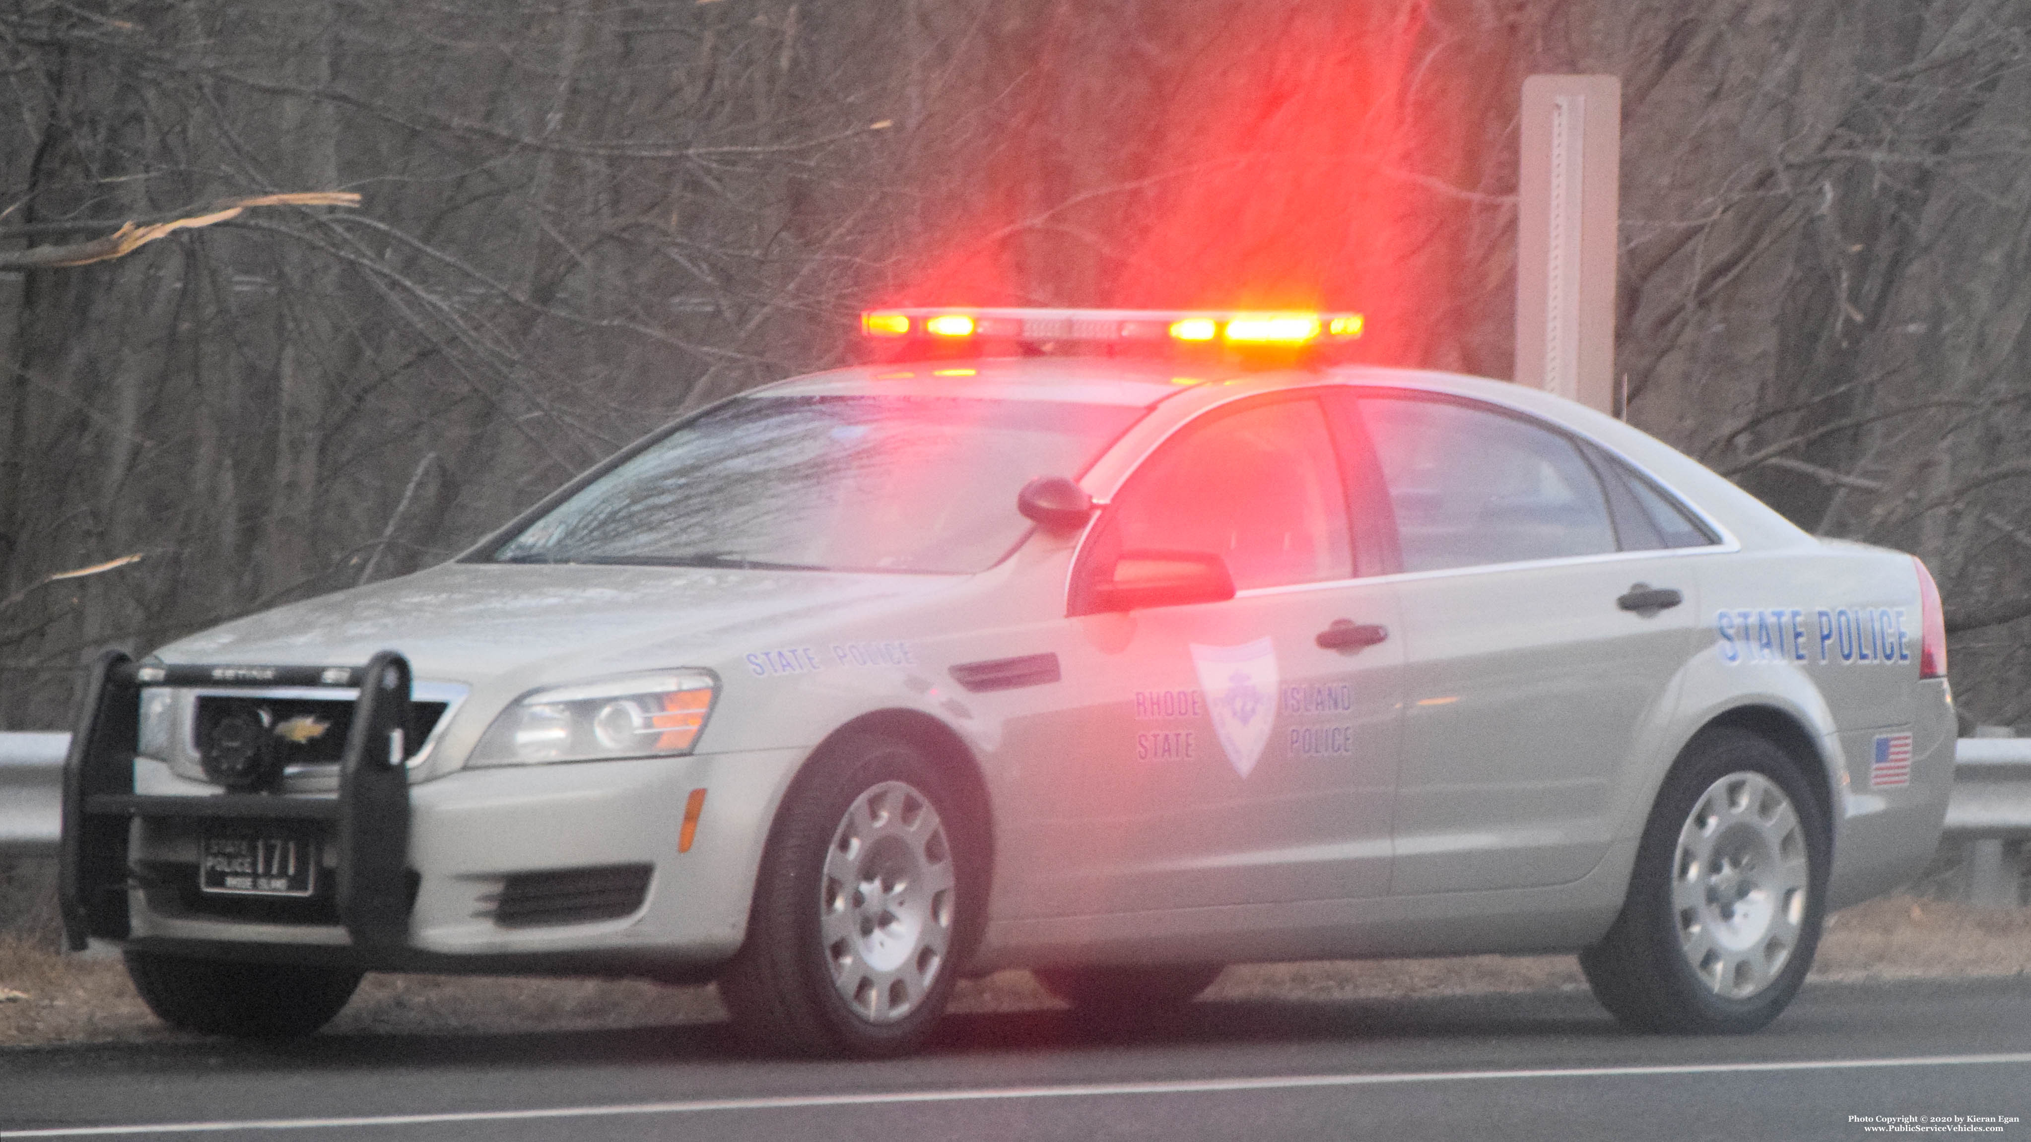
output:
M774 1051L963 974L1578 951L1763 1026L1934 850L1940 596L1357 314L886 310L465 556L93 671L69 935L167 1022L362 972L717 980Z

